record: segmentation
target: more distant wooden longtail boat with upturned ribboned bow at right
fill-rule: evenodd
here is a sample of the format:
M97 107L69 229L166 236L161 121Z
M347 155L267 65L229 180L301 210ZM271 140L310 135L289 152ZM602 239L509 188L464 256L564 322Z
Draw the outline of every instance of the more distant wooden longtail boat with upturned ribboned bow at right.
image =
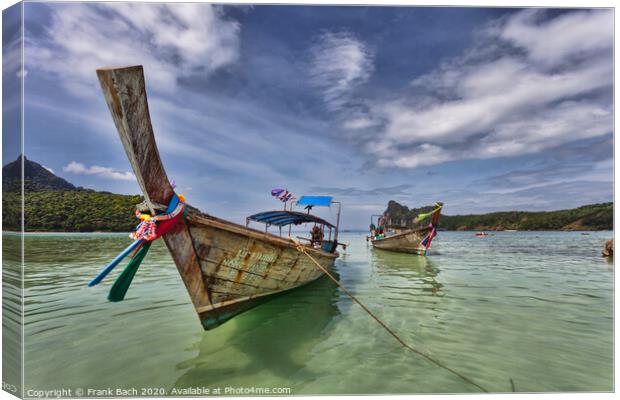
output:
M397 251L401 253L412 253L418 255L429 255L431 242L437 234L437 223L441 216L442 203L437 203L436 208L431 212L430 223L428 226L418 229L390 230L383 228L380 235L371 233L370 242L372 246L381 250ZM370 217L371 226L374 226ZM383 216L378 216L383 217ZM378 223L378 225L381 225Z

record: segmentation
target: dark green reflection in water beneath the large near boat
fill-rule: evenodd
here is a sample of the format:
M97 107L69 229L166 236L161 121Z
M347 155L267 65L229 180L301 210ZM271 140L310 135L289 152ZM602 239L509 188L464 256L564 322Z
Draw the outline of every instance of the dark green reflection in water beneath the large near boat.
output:
M339 279L337 272L332 274ZM215 332L204 332L194 345L196 357L177 365L188 370L174 387L217 387L224 382L243 387L266 376L290 379L330 336L336 325L330 322L340 315L338 299L336 284L323 277L265 301Z

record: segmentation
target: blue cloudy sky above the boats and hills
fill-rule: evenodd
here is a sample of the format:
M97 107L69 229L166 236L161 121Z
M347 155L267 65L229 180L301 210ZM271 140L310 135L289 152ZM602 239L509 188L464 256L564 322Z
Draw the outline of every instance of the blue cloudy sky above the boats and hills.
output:
M25 154L75 185L139 193L95 69L142 64L168 176L235 222L280 208L272 188L333 195L345 229L389 200L613 200L610 9L25 3L24 22L24 72L19 35L3 52Z

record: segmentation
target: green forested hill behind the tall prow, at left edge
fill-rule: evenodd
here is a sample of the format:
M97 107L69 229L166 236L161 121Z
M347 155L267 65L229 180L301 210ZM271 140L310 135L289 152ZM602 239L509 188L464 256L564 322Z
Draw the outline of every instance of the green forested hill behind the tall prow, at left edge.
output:
M2 168L2 230L21 230L21 156ZM24 158L26 231L129 232L137 219L138 195L75 187L40 164Z

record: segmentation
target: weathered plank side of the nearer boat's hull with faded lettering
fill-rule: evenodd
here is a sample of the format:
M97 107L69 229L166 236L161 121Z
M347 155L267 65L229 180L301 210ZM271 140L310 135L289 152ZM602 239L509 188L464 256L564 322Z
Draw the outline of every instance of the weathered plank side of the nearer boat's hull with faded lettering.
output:
M321 269L297 250L297 244L289 238L205 214L190 214L187 219L207 294L206 299L195 302L205 329L219 326L270 295L323 276ZM176 251L169 249L171 253ZM337 254L305 249L325 269L330 269L337 258Z

